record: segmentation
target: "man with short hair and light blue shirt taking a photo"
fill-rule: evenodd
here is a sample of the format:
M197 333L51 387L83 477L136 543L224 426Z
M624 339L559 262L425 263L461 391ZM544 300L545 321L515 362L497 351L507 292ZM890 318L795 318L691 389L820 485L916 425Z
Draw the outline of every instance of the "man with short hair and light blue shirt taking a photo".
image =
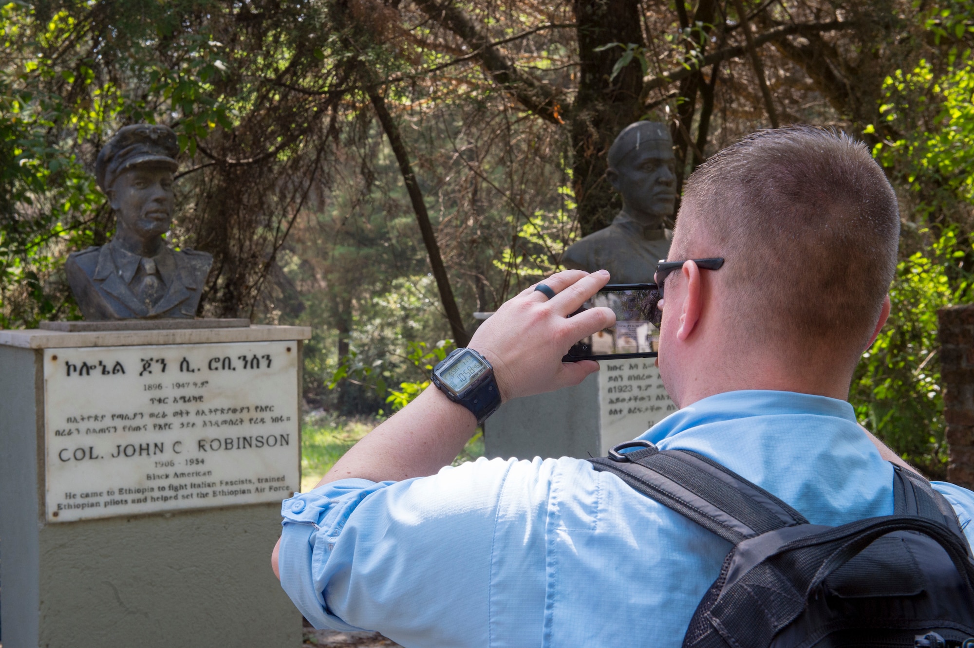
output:
M687 261L657 277L659 369L682 409L640 439L710 457L812 523L890 515L894 455L844 399L889 312L898 233L880 167L844 135L763 131L702 165L670 253ZM719 270L693 261L713 257ZM608 280L560 272L544 281L553 298L529 289L481 326L470 346L504 398L596 370L560 358L611 323L597 308L567 317ZM405 646L681 645L730 544L587 461L436 472L474 425L428 389L285 500L272 560L304 615ZM974 493L935 487L970 541Z

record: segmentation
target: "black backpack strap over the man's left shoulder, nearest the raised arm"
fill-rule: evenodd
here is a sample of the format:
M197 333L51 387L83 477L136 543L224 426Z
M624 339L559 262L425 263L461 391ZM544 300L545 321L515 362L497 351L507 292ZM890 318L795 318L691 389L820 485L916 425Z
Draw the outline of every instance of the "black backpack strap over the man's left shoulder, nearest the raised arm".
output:
M621 452L627 448L638 448ZM767 490L690 450L663 450L646 441L616 446L589 459L663 506L736 545L747 538L808 521Z

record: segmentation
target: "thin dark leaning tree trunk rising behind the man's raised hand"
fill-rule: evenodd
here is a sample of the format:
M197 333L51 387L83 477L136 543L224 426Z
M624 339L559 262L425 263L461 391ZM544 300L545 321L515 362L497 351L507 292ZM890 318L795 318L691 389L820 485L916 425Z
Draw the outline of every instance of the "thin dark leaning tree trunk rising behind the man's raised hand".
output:
M393 120L386 107L386 100L379 94L379 91L371 88L368 90L369 99L375 108L379 122L382 124L389 143L393 147L395 161L399 163L399 171L402 173L402 181L406 185L409 199L413 203L413 211L416 212L416 220L420 225L420 232L423 234L423 242L426 244L427 253L430 255L430 268L432 275L436 279L436 287L439 289L439 299L446 312L446 319L450 323L450 331L453 333L453 340L457 346L467 346L470 339L464 327L464 320L460 316L460 309L457 301L453 298L453 289L450 288L450 278L446 274L443 266L443 257L439 253L439 244L436 242L436 234L432 231L430 214L426 208L426 201L420 191L419 183L416 182L416 175L413 173L412 163L409 162L409 153L406 151L405 144L399 134L399 126Z

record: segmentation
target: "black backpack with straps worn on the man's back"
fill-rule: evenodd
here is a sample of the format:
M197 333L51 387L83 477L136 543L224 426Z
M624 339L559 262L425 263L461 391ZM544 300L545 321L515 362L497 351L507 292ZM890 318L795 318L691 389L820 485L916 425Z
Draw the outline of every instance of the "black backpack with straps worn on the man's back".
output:
M823 526L689 450L634 441L589 461L733 544L684 648L974 648L970 546L910 471L893 466L894 515Z

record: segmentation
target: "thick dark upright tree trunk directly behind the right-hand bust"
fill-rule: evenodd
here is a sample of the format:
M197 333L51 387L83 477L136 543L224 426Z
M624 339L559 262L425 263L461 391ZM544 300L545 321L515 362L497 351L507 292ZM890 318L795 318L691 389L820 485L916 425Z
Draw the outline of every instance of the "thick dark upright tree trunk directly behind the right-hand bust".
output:
M633 60L610 81L621 48L595 49L619 42L643 47L638 0L575 0L581 78L571 114L575 199L581 234L608 226L621 200L606 179L609 147L618 132L642 117L639 100L643 70Z

